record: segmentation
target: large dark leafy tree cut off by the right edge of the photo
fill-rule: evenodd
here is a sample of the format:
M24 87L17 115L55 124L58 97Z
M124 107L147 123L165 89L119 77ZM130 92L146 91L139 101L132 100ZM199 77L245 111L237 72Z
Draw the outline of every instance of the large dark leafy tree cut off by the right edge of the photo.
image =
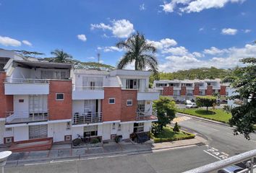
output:
M256 124L256 58L244 58L241 62L247 66L234 68L226 80L231 81L238 93L229 99L244 99L246 102L231 110L229 124L235 126L234 135L242 133L249 140L249 133L254 131Z

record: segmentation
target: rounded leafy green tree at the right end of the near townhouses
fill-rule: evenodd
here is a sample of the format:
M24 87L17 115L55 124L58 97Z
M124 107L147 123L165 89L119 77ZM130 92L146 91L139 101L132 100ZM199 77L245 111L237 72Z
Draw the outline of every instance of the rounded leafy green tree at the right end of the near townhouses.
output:
M154 101L153 109L157 111L158 122L156 122L155 125L159 132L159 130L163 130L163 127L166 127L171 120L174 120L176 105L169 97L160 97L160 99Z

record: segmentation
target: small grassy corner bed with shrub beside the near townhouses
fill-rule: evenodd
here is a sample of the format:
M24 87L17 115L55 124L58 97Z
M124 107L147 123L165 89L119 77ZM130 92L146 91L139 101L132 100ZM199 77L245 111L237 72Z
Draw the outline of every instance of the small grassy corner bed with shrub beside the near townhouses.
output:
M179 133L174 133L173 129L170 127L163 128L163 132L157 136L153 136L155 143L167 142L167 141L179 141L183 139L195 138L192 133L187 133L180 131Z

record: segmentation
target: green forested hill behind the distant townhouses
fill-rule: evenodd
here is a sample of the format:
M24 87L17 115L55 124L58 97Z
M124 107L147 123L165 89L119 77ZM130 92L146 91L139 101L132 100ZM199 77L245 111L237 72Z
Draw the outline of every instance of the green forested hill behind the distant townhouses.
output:
M176 71L172 73L161 72L158 76L151 76L150 79L172 80L172 79L222 79L229 73L226 69L221 68L192 68L189 70Z

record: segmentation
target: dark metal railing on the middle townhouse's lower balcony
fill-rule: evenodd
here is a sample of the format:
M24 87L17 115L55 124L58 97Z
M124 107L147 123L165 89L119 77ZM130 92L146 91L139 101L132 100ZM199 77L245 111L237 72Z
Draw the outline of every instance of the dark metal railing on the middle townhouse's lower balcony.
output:
M73 116L73 125L101 123L102 112L75 112Z

